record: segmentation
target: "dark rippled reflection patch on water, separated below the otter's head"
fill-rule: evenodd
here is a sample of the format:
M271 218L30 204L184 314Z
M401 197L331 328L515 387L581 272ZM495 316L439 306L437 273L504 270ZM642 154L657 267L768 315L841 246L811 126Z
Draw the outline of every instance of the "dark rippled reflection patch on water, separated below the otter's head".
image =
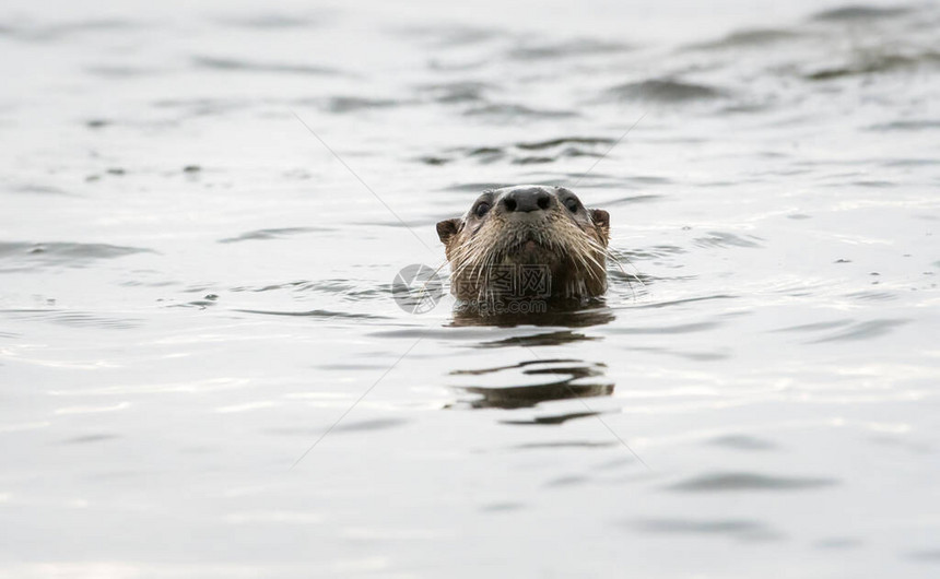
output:
M520 371L525 377L545 377L550 381L507 387L463 386L459 387L459 390L473 394L473 398L454 405L466 405L472 409L526 409L550 400L611 395L613 382L600 378L604 375L606 367L604 364L590 364L578 359L538 359L480 370L455 370L450 373L451 376L478 377L515 370ZM538 424L561 424L565 420L594 414L596 413L577 413L577 415L542 417L536 421ZM522 423L516 421L514 424Z

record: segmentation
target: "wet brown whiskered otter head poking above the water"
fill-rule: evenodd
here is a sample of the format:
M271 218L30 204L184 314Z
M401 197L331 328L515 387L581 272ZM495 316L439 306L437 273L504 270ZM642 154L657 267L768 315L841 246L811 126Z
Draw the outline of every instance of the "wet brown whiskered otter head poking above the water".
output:
M563 187L484 191L462 217L437 224L460 300L596 297L607 291L610 215Z

